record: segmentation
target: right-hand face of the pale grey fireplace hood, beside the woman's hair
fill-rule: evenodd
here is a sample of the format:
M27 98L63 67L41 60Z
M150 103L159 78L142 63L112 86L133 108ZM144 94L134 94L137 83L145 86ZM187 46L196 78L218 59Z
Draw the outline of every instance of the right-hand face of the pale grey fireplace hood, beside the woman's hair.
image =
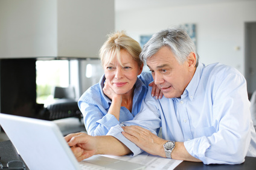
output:
M98 58L115 29L114 0L58 1L58 56Z

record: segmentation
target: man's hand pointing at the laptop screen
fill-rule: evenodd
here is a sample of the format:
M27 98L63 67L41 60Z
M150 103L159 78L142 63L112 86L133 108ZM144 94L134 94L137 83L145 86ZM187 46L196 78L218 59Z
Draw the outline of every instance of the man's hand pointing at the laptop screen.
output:
M64 137L78 162L93 156L97 152L97 142L86 133L72 133Z

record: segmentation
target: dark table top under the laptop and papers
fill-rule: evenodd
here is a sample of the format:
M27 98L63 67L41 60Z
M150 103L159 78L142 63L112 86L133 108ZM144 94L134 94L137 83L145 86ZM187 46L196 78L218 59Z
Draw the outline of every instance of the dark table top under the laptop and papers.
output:
M17 153L11 141L0 142L0 156L1 163L5 166L10 160L22 160L21 156ZM26 166L26 169L28 167ZM186 170L200 170L200 169L256 169L256 157L245 157L245 162L240 165L204 165L198 162L187 162L184 161L178 165L175 169L186 169Z

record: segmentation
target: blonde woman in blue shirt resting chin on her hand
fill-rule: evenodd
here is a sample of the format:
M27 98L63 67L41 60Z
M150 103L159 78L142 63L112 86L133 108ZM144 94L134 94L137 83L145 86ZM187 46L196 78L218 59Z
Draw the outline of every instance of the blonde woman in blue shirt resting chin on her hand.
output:
M104 75L78 100L88 135L106 135L109 129L132 120L141 109L150 82L150 73L142 72L141 47L124 32L110 34L100 49ZM162 93L153 85L152 96Z

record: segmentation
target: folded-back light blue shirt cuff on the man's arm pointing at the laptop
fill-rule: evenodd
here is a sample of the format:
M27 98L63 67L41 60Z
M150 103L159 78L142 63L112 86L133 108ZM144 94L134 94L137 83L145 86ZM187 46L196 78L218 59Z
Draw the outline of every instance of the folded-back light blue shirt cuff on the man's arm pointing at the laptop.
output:
M137 147L133 142L129 141L126 137L122 135L121 132L124 130L121 128L120 125L111 127L107 135L113 136L114 138L117 138L119 141L121 141L124 145L126 145L127 148L132 151L132 154L129 154L129 156L136 156L140 153L142 153L143 150L141 148Z

